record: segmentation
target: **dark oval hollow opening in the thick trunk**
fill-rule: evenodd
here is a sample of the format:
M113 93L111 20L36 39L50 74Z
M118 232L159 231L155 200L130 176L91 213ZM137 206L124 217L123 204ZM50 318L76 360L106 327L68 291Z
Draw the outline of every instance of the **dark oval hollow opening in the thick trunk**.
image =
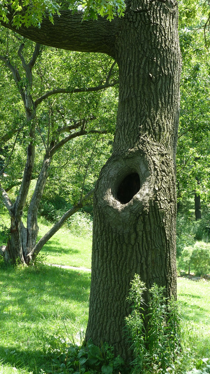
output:
M117 191L117 198L122 204L129 203L133 196L140 190L139 174L132 173L127 175L121 182Z

